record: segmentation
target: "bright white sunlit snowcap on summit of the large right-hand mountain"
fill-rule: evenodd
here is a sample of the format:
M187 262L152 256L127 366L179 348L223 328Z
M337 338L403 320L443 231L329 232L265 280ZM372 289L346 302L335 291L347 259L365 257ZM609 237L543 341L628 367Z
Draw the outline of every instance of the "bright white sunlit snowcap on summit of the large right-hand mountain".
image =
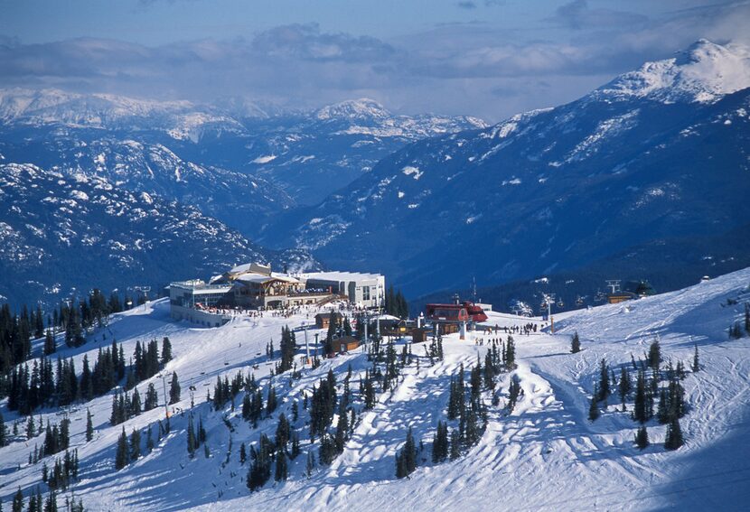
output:
M750 87L750 48L700 39L663 61L646 62L592 93L597 99L650 98L664 103L713 103Z

